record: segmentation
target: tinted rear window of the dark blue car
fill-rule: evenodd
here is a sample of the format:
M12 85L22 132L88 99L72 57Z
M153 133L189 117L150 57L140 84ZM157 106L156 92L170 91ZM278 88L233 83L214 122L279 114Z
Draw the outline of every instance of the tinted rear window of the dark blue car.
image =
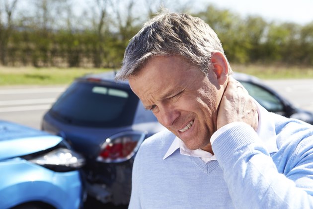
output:
M76 81L52 106L50 113L71 124L120 127L132 124L138 102L130 88Z

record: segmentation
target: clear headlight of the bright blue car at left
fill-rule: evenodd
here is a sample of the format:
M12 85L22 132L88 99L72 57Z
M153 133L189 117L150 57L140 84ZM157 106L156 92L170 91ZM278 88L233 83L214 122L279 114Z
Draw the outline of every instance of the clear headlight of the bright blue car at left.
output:
M64 147L28 159L28 161L57 172L77 170L85 164L82 155Z

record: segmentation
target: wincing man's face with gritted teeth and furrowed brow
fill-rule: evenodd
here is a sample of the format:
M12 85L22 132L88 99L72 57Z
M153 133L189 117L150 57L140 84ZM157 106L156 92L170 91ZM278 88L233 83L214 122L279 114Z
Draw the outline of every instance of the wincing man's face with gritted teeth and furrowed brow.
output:
M189 149L212 151L210 137L224 88L180 56L153 57L129 78L132 90L157 120Z

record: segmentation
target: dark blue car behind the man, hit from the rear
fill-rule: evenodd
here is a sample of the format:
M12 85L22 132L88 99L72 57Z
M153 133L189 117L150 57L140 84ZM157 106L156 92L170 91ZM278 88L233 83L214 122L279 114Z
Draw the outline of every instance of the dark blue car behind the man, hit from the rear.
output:
M144 139L164 129L114 72L78 78L44 115L42 129L64 137L87 159L88 195L103 203L128 205L134 156ZM269 111L313 122L259 80L235 74ZM306 114L306 117L299 117Z

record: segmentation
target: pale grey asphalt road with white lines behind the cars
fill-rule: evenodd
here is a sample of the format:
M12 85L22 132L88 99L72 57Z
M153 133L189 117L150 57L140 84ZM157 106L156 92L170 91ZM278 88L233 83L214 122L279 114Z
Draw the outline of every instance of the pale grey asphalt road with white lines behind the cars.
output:
M313 79L264 80L298 107L313 111ZM0 119L40 129L43 114L66 86L0 87Z

